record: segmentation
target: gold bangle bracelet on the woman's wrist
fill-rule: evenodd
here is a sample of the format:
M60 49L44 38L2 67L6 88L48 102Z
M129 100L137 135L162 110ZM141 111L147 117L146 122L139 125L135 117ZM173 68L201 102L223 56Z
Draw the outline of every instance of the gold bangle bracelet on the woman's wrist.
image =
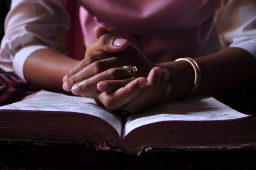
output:
M195 80L194 80L193 88L185 96L185 98L188 98L188 97L192 96L193 94L195 94L195 91L198 89L200 79L201 79L201 69L200 69L200 66L198 65L198 63L195 62L195 60L190 57L175 59L175 62L177 62L177 61L189 62L189 64L192 65L193 70L195 72Z

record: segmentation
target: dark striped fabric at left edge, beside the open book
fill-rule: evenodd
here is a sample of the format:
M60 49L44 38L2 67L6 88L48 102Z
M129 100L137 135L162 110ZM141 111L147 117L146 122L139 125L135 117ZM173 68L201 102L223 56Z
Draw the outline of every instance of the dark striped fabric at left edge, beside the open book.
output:
M15 74L6 73L0 69L0 106L18 102L36 90Z

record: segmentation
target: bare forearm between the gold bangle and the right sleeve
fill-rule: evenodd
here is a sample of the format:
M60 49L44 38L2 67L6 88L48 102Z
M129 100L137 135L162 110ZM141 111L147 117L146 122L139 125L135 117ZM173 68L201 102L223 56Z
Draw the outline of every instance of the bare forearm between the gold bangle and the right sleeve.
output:
M223 94L256 79L256 59L241 48L226 48L195 61L202 72L197 95Z

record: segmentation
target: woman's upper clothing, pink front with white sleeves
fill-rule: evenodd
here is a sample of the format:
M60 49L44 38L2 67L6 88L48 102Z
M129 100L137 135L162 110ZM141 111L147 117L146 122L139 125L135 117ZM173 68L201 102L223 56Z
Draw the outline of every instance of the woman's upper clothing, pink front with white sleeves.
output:
M153 62L212 54L221 48L218 34L229 47L256 57L256 1L230 0L214 21L220 1L12 0L0 47L0 68L26 82L23 66L27 57L42 48L58 49L58 36L70 27L65 54L81 59L82 40L85 37L86 45L95 40L96 25L116 30Z

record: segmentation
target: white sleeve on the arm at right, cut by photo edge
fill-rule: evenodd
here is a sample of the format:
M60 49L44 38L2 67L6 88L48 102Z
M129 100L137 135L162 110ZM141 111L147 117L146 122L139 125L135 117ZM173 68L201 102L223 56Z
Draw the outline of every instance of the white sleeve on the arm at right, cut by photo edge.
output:
M230 47L242 48L256 58L256 0L230 0L217 24Z

